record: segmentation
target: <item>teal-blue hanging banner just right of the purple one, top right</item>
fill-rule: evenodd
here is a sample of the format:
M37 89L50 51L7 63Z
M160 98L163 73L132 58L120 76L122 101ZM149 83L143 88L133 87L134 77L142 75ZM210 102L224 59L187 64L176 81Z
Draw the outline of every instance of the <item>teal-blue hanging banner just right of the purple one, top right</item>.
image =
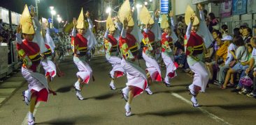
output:
M232 14L243 15L246 14L246 0L233 0L232 3Z

